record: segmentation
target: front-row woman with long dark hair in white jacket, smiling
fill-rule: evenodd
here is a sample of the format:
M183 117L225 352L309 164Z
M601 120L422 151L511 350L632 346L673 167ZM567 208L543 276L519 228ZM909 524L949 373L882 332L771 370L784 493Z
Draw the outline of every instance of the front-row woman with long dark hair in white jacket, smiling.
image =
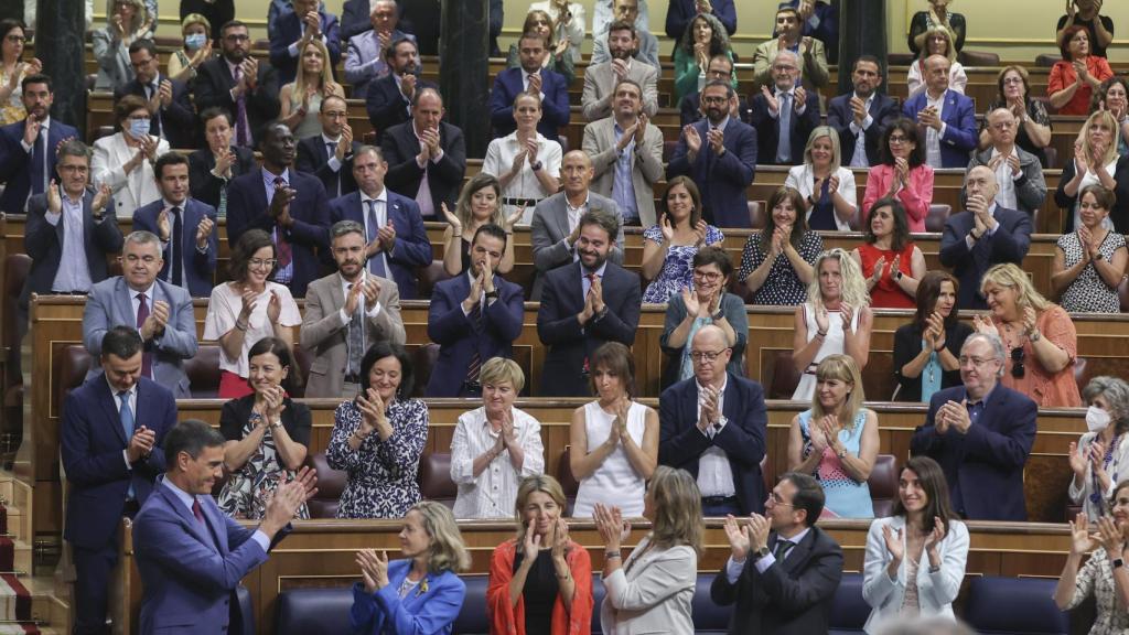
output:
M894 515L874 521L866 538L866 632L898 617L955 619L968 555L969 530L949 507L940 466L928 456L910 459L898 480Z

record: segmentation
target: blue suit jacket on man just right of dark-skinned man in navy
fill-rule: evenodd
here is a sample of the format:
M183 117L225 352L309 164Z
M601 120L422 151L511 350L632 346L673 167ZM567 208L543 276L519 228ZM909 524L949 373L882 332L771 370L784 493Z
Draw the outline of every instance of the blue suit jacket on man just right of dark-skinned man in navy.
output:
M431 264L431 241L423 229L423 218L415 201L392 190L388 192L388 221L396 228L396 243L388 254L388 273L400 287L400 299L415 299L415 269ZM338 197L330 202L333 223L356 220L365 226L365 208L360 192Z

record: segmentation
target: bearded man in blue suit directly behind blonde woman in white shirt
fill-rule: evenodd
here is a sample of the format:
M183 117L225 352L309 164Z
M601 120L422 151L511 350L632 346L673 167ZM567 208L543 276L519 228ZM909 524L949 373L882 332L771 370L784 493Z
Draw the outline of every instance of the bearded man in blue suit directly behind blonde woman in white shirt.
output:
M523 35L517 52L522 66L499 72L490 90L490 123L495 137L505 137L517 129L514 99L518 93L528 92L541 95L537 132L545 139L557 139L559 129L568 125L568 82L560 73L541 66L545 56L545 41L541 37Z

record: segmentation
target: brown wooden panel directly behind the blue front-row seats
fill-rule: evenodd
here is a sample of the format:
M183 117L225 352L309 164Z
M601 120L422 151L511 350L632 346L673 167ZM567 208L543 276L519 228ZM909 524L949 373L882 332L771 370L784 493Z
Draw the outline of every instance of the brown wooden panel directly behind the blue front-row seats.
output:
M123 527L120 580L130 590L128 601L112 607L115 624L124 633L137 632L141 606L141 583L129 522ZM397 557L400 523L393 521L297 521L294 532L271 551L270 559L253 571L243 583L252 590L255 624L262 633L274 627L275 600L296 588L343 588L358 580L355 554L360 549L385 549ZM1057 576L1070 548L1066 525L969 522L970 547L965 575ZM826 530L843 548L844 571L863 567L867 521L825 521ZM509 522L461 522L463 539L472 555L465 575L487 575L495 546L514 536ZM637 523L624 547L633 547L648 524ZM593 571L603 567L603 543L590 522L569 523L570 537L589 551ZM729 556L721 522L706 521L704 549L698 560L702 572L716 572Z

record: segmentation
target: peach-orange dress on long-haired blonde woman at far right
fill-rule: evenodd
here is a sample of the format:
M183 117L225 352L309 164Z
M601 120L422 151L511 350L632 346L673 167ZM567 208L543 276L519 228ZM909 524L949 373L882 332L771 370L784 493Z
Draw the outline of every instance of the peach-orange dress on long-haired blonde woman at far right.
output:
M1022 334L1022 322L997 323L1000 338L1004 340L1005 362L1004 379L1000 383L1012 390L1017 390L1039 405L1040 408L1076 408L1082 406L1082 394L1074 379L1074 363L1078 356L1078 333L1074 321L1061 306L1052 304L1039 314L1035 320L1039 332L1051 343L1061 348L1070 356L1070 363L1058 373L1048 373L1035 358L1034 347L1026 336ZM1012 376L1012 349L1023 342L1023 377Z

